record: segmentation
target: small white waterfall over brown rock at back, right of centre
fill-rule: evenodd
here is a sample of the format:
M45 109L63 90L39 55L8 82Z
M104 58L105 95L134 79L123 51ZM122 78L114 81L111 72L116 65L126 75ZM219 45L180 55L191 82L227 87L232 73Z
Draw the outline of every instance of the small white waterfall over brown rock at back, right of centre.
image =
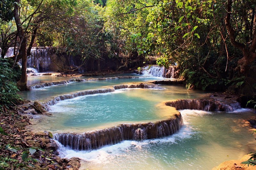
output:
M142 71L137 71L136 73L142 75L152 75L154 77L177 78L177 75L175 75L175 67L173 66L166 69L164 66L160 67L157 65L150 65L143 67Z

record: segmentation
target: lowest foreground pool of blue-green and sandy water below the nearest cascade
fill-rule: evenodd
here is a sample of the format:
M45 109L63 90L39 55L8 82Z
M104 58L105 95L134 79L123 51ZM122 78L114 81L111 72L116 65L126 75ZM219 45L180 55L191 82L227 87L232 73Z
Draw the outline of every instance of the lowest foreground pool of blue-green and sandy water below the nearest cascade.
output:
M142 142L124 141L92 152L60 150L61 156L82 158L81 169L212 169L241 159L254 149L250 128L241 120L253 111L211 113L183 110L179 133Z

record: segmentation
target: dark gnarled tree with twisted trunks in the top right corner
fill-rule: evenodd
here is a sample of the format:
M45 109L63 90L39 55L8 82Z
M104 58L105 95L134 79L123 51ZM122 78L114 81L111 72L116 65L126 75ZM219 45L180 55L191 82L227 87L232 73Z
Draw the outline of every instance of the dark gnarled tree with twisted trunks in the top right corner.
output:
M227 15L225 24L231 44L243 52L243 57L237 62L237 69L241 73L248 70L248 66L256 59L256 1L244 3L227 1ZM233 10L232 10L233 9ZM237 22L238 21L238 22ZM238 26L236 25L238 24ZM236 26L236 30L234 29ZM237 40L237 36L244 34Z

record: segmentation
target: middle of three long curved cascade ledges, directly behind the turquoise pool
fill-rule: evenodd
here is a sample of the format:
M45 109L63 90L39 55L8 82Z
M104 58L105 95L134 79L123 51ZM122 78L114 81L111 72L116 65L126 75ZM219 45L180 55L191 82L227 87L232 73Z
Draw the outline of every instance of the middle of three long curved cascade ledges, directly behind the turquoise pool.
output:
M48 110L50 110L50 108L49 108L50 106L57 104L57 102L61 101L61 100L73 99L73 98L76 98L76 97L92 95L92 94L115 92L117 89L123 89L123 88L153 88L153 89L162 89L162 87L159 87L158 85L155 85L155 84L152 84L152 83L115 85L114 87L105 88L105 89L85 90L85 91L81 91L81 92L75 92L75 93L71 93L71 94L60 95L60 96L54 97L54 99L46 102L44 104L44 106Z

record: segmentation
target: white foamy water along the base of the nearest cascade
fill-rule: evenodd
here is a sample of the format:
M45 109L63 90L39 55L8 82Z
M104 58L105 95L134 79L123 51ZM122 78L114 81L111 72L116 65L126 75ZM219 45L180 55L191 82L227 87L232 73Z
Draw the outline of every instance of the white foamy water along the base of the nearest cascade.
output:
M58 141L56 143L59 145L58 152L62 158L70 159L72 157L77 157L86 161L92 161L95 163L102 163L103 161L108 161L113 157L118 157L124 152L133 148L135 150L141 150L143 147L148 147L148 145L161 144L161 143L170 143L177 144L182 142L185 138L190 138L195 132L188 125L182 127L179 133L174 134L170 137L163 137L160 139L151 139L144 141L123 141L119 144L114 144L111 146L105 146L98 150L93 151L74 151L68 147L64 147Z

